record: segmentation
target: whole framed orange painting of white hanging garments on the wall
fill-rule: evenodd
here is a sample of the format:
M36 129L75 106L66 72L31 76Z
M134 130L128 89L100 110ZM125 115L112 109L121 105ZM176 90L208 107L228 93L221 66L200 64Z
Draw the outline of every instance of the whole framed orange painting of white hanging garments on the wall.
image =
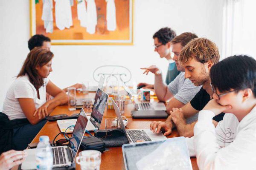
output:
M30 0L30 33L53 45L133 45L134 0Z

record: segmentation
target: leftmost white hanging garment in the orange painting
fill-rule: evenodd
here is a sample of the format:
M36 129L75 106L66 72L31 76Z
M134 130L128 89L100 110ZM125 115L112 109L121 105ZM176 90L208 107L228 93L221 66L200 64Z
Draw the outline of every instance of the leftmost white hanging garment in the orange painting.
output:
M53 31L52 8L52 0L43 0L42 20L44 21L44 28L47 33L52 33Z

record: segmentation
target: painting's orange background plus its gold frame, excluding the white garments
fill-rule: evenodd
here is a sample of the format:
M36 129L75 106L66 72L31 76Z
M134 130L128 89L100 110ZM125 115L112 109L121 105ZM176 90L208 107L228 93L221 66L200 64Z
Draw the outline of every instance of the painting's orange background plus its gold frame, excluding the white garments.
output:
M70 28L60 30L56 26L55 8L56 2L52 0L52 33L47 33L42 20L43 0L35 4L31 0L31 35L44 34L52 40L52 44L102 44L102 45L132 45L133 43L133 0L114 0L116 9L116 28L113 31L107 29L107 2L106 0L95 0L96 5L96 27L95 33L89 34L87 28L81 26L78 18L77 3L73 0L71 15L73 25ZM88 2L84 1L85 10Z

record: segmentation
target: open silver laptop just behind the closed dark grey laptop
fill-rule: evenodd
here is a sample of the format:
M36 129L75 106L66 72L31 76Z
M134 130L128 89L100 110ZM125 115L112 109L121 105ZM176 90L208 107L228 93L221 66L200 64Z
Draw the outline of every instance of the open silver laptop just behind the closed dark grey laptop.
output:
M166 111L166 106L162 102L140 102L137 96L132 95L130 88L128 88L125 83L123 83L123 86L137 111Z

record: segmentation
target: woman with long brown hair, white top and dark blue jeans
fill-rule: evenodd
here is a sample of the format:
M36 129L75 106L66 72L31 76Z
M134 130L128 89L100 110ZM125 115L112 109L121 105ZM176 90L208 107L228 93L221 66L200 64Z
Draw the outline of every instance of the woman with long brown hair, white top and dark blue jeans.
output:
M51 51L34 48L7 91L3 113L9 120L26 118L30 122L13 129L12 142L16 150L25 149L44 126L45 116L67 102L67 94L47 78L52 71L52 58ZM46 92L54 98L46 101Z

